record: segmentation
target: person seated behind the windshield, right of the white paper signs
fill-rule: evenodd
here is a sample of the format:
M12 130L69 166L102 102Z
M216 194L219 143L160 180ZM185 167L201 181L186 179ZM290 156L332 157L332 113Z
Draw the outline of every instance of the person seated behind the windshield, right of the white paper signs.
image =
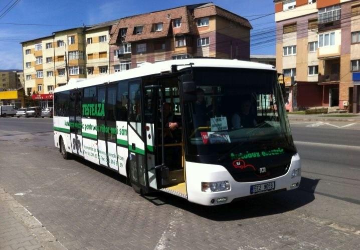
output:
M236 111L231 117L232 127L235 129L242 127L255 127L256 115L252 111L252 104L249 97L242 97L240 103L240 112Z

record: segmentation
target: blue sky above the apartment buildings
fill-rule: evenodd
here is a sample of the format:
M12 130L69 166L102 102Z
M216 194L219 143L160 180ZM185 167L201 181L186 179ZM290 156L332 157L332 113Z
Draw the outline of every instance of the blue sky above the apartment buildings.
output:
M22 41L51 35L54 31L83 24L96 24L125 16L202 2L208 1L0 0L0 69L23 69L20 44ZM250 20L253 26L251 54L275 54L273 0L212 0L212 2ZM16 4L9 10L9 6L13 3Z

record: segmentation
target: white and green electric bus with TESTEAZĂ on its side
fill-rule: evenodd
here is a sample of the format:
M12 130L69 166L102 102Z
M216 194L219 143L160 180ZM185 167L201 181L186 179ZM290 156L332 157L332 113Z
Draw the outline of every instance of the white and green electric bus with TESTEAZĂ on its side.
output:
M54 140L136 192L203 205L297 188L300 158L271 65L194 58L55 89Z

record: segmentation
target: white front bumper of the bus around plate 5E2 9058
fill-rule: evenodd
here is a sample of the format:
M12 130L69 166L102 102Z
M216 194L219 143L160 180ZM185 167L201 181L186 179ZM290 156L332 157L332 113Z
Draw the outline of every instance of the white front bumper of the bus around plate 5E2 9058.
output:
M300 157L295 154L284 175L262 181L238 182L224 166L186 162L188 199L198 204L218 205L246 196L295 189L300 185L300 169ZM202 191L202 182L218 181L228 181L230 189L217 192Z

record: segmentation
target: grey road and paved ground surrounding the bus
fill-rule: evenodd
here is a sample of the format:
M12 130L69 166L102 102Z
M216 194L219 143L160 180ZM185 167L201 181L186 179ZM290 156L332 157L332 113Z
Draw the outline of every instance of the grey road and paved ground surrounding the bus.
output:
M0 118L0 188L68 249L358 249L360 126L315 123L291 125L299 189L207 208L62 159L50 118Z

